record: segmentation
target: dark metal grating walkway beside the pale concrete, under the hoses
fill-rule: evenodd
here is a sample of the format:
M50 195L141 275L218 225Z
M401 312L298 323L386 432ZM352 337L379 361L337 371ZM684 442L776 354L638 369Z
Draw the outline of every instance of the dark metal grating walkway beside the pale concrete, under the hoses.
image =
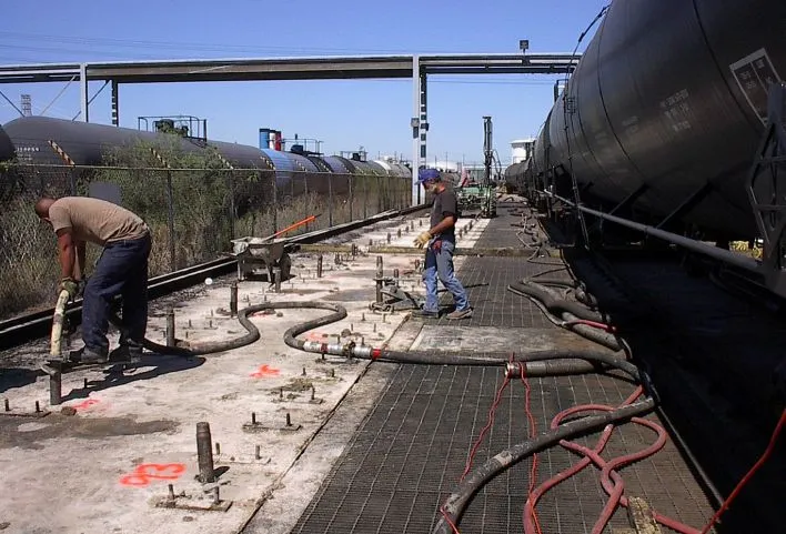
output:
M518 242L516 228L511 226L517 221L520 218L504 214L492 220L478 246L511 246L511 235ZM422 335L436 335L445 323L467 331L487 326L557 331L534 304L506 291L508 283L548 269L554 268L526 263L521 258L467 258L458 276L470 286L475 315L457 322L424 321ZM481 282L488 285L475 285ZM451 296L445 296L450 302ZM440 504L464 471L503 380L500 369L400 366L292 533L430 533ZM566 407L590 402L615 405L633 391L626 382L599 375L538 379L530 385L531 411L538 431ZM526 439L530 430L524 399L522 382L511 382L474 466ZM636 452L653 441L649 430L627 424L615 431L602 455L612 459ZM594 446L595 439L578 442ZM538 457L538 482L577 461L562 447ZM522 462L481 490L461 521L461 532L523 532L530 468L530 461ZM713 513L671 441L661 452L621 470L621 474L626 495L644 497L669 517L701 527ZM588 533L605 502L597 471L587 467L541 500L537 514L542 532ZM609 527L625 526L625 512L617 511Z

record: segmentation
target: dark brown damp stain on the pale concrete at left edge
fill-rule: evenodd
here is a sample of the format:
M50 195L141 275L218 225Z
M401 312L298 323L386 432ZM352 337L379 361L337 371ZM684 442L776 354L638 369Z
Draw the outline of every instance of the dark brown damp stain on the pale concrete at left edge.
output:
M43 449L40 442L62 437L100 440L109 436L172 432L180 423L157 420L138 423L130 417L80 417L52 413L41 421L0 417L0 449Z

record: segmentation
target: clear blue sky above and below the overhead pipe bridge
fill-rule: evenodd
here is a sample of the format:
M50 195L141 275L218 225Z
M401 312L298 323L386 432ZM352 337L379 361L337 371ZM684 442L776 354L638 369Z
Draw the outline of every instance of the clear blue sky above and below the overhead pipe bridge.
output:
M303 0L56 0L3 9L0 63L149 59L349 56L374 53L532 53L573 51L608 0L391 2ZM588 43L597 26L584 39ZM492 115L503 163L510 141L534 135L552 105L557 75L445 75L429 80L429 160L481 161L483 115ZM91 94L102 82L92 82ZM64 83L0 85L34 114ZM91 122L110 123L109 88L91 104ZM72 83L47 115L73 118ZM169 83L120 87L120 122L139 115L208 119L209 137L258 145L259 128L316 138L328 153L364 147L370 157L412 157L411 80ZM0 122L19 114L0 99Z

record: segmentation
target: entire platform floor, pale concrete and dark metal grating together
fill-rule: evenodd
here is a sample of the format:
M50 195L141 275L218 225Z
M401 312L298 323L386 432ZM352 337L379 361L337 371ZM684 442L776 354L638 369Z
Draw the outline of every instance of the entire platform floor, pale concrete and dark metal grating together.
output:
M301 335L320 342L352 337L400 351L477 354L605 350L554 325L535 303L507 291L508 284L546 271L570 280L555 251L532 261L488 252L526 248L520 206L512 203L501 203L495 219L472 226L460 221L458 246L485 251L456 256L474 308L471 319L372 311L382 254L364 251L369 244L411 246L425 221L423 214L407 215L333 239L322 253L320 275L316 252L293 253L292 278L282 281L280 292L265 281L243 281L239 306L340 303L345 319ZM328 253L331 245L347 244L357 252ZM385 275L399 271L402 289L423 293L422 252L384 254L383 262ZM152 303L149 337L165 339L169 309L175 310L179 337L206 342L241 334L228 313L233 279ZM442 304L451 303L443 294ZM322 315L260 312L250 318L261 334L251 345L193 359L148 354L138 369L63 375L62 411L49 406L46 416L0 416L6 495L0 525L4 532L84 534L431 533L471 456L475 468L533 431L547 430L561 411L591 403L617 406L635 389L614 373L506 380L498 366L372 362L284 344L286 329ZM27 357L43 357L46 346L39 345L46 343L28 346ZM40 376L23 383L0 379L0 392L20 415L30 414L36 402L46 406L48 396ZM665 424L655 413L645 419ZM210 424L220 473L206 486L199 481L195 442L203 422ZM655 440L655 432L628 422L615 426L601 455L633 454ZM592 449L597 434L574 442ZM492 478L470 502L457 530L523 532L533 488L581 460L562 446L536 459L534 468L525 460ZM672 439L618 471L627 497L672 520L701 530L714 513ZM588 466L538 501L540 532L590 533L607 501L599 471ZM42 503L46 516L38 513ZM631 528L626 510L618 507L604 532L635 532Z

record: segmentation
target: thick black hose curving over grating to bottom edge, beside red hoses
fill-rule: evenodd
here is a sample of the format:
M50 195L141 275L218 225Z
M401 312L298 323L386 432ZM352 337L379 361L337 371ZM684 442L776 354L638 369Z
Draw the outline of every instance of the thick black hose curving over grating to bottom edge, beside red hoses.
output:
M502 451L486 463L476 467L470 476L458 484L458 487L447 497L441 507L440 521L433 534L452 534L453 525L457 525L472 496L491 478L522 460L556 445L562 440L578 437L597 431L611 423L619 423L631 417L642 416L655 407L653 399L616 409L601 415L590 415L544 432L537 437L513 445Z

